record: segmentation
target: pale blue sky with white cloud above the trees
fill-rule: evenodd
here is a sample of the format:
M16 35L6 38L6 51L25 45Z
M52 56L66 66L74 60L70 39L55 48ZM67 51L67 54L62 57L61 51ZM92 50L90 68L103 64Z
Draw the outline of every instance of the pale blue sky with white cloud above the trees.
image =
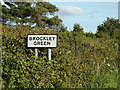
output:
M74 24L78 23L82 28L84 28L84 32L96 33L97 26L102 24L107 17L118 19L119 0L46 1L49 1L59 8L56 15L63 20L63 24L68 27L69 31L73 30Z

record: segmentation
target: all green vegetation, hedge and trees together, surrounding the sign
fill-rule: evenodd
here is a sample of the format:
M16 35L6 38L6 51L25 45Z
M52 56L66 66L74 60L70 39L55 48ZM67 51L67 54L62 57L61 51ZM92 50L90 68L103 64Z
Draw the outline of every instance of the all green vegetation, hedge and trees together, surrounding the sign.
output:
M9 2L6 4L10 5L11 9L2 6L3 89L119 87L119 20L107 18L98 26L96 34L84 33L79 24L74 24L73 31L68 31L57 16L46 17L47 13L53 15L58 11L50 3L40 2L36 4L37 7L30 7L31 3L16 2L19 8ZM40 5L42 8L39 7ZM23 8L22 12L26 16L20 16L18 12L20 8ZM29 14L25 12L26 9ZM38 9L41 13L37 13ZM36 13L32 15L32 11ZM12 14L16 14L17 18ZM31 18L26 18L27 16ZM41 18L38 19L39 16ZM7 21L15 21L17 25L9 26ZM24 24L26 22L30 24ZM36 23L36 26L32 28L30 25L33 23ZM58 35L58 46L52 48L50 63L48 63L47 48L38 48L39 56L35 57L34 48L26 47L28 34Z

